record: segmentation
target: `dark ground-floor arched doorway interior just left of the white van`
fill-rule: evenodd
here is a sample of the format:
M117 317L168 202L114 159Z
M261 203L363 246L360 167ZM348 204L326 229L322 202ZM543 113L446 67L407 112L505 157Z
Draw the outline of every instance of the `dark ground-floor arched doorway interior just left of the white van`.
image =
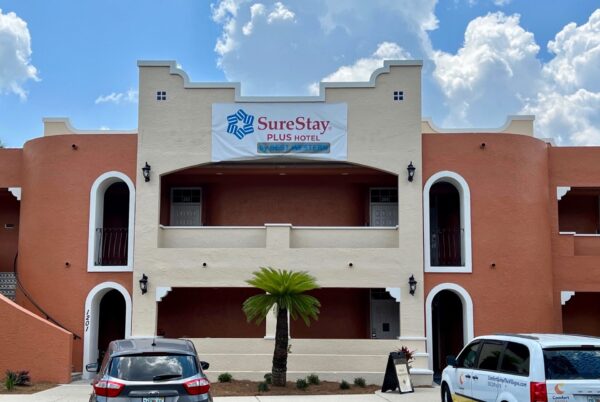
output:
M446 367L446 356L458 355L464 346L463 305L451 290L442 290L431 303L433 372L441 374Z

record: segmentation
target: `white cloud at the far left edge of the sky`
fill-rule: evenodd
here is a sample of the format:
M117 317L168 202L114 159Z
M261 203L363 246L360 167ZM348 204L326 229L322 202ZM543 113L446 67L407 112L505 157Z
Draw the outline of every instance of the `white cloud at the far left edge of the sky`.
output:
M22 85L28 80L39 81L37 69L31 64L31 35L27 23L14 12L0 9L0 93L9 92L27 99Z

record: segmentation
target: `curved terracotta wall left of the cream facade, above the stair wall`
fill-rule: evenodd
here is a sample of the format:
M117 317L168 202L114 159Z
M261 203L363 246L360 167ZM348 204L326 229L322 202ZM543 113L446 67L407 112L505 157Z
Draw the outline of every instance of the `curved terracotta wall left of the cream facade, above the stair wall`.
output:
M135 181L136 149L137 136L130 134L43 137L23 148L19 277L50 316L79 336L94 286L113 281L131 292L131 273L87 272L87 246L93 182L113 170ZM17 302L38 312L21 292ZM81 371L81 339L73 349L73 365Z

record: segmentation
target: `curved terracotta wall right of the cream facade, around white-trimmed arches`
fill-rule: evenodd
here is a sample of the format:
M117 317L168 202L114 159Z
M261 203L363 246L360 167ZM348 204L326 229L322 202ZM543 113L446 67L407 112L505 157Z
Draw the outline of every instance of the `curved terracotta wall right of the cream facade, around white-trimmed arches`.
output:
M423 183L442 170L468 183L473 249L471 274L426 273L425 296L441 283L462 286L473 300L475 335L560 331L546 143L522 135L424 134L423 160Z

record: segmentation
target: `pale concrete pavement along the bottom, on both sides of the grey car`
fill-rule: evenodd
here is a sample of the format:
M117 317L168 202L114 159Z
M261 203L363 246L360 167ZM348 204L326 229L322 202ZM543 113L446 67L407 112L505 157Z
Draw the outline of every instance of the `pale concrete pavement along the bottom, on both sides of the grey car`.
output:
M87 402L89 384L59 385L33 395L0 395L0 402ZM214 402L436 402L439 388L416 388L412 394L293 395L215 397Z

